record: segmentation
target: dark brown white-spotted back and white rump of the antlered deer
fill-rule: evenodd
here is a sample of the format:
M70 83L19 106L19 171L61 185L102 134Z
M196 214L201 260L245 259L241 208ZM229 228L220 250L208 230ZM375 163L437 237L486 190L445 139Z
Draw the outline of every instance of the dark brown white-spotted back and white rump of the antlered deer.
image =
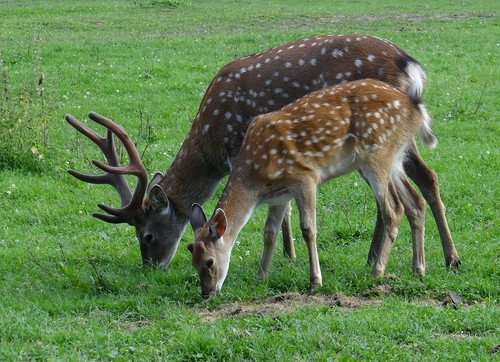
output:
M425 74L396 45L362 34L305 38L240 58L212 80L186 147L202 152L215 169L227 173L253 117L314 90L364 78L419 96Z

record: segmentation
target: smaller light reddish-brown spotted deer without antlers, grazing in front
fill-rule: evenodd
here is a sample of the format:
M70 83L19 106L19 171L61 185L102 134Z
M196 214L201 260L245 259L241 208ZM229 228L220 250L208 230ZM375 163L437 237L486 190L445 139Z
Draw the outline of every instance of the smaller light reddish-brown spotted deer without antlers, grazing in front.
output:
M310 288L322 285L316 250L316 188L359 170L380 207L382 242L373 277L381 277L403 214L397 189L406 179L403 160L414 136L436 139L420 99L376 80L358 80L315 91L279 111L254 118L216 211L207 222L193 205L195 243L188 244L203 297L226 278L236 237L260 204L269 205L264 252L257 275L266 277L279 225L290 199L300 215L309 251Z

